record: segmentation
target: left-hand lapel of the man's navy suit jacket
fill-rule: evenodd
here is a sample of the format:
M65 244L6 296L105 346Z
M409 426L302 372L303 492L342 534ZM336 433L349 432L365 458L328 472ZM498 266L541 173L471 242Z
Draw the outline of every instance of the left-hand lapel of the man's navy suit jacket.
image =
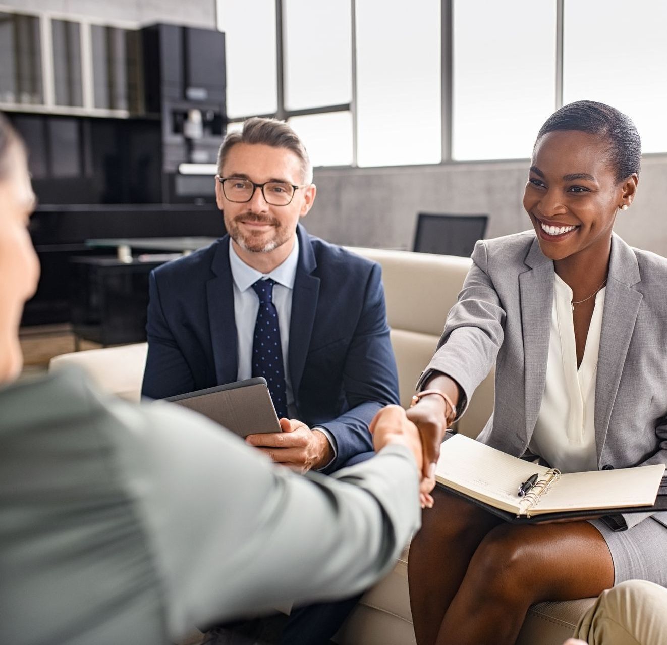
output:
M238 350L234 319L233 278L229 267L229 236L221 240L211 263L211 271L215 273L215 277L206 283L206 296L215 378L219 384L231 383L237 377Z

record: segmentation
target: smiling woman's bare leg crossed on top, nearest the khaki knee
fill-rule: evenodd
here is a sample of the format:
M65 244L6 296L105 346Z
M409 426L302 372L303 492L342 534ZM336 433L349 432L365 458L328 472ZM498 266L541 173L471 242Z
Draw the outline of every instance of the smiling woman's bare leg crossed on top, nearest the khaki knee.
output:
M612 556L588 522L502 524L477 548L436 642L511 645L534 602L597 596L612 584Z

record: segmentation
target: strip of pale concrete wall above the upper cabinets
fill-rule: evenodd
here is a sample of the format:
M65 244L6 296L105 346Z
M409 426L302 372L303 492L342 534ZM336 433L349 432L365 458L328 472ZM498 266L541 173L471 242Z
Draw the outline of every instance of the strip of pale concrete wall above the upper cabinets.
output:
M137 25L161 22L209 29L216 26L215 0L0 0L0 6Z

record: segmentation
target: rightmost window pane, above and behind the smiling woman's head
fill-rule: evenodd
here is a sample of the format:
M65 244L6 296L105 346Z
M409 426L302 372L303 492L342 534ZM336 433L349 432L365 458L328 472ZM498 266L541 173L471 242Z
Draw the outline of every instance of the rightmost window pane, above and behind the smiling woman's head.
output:
M667 151L667 3L590 0L564 4L563 103L602 101L625 112L642 137L643 152Z

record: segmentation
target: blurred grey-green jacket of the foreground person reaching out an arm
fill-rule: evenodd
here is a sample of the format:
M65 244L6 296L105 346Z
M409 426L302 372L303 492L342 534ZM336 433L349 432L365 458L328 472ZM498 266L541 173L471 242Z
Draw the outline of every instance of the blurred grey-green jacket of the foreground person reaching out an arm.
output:
M354 594L419 522L402 446L301 477L193 412L103 396L79 372L0 388L0 643L158 645Z

